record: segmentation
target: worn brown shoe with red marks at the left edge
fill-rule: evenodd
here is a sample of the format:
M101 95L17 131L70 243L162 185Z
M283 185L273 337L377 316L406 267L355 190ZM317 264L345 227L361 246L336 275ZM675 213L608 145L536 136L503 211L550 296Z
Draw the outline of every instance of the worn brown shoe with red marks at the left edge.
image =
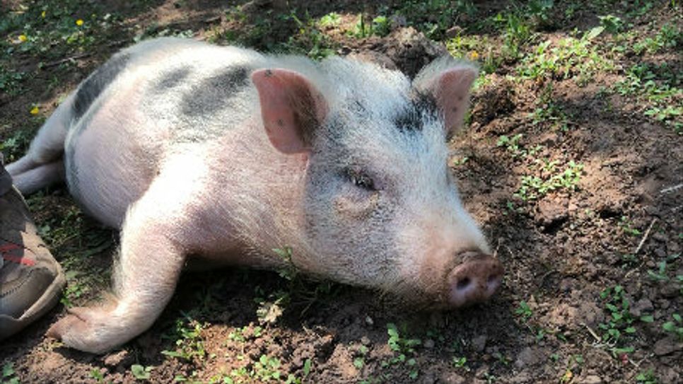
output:
M54 307L64 285L62 267L37 235L0 158L0 340Z

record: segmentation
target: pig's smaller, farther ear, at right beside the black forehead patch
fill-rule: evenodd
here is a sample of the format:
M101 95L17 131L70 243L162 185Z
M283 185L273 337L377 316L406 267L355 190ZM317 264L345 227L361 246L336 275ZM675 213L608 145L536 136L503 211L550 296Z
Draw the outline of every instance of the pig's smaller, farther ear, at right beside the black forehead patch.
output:
M450 136L462 126L469 107L469 88L477 78L477 69L467 64L443 68L444 62L440 60L423 69L416 76L414 86L421 93L433 95L443 115L446 135Z

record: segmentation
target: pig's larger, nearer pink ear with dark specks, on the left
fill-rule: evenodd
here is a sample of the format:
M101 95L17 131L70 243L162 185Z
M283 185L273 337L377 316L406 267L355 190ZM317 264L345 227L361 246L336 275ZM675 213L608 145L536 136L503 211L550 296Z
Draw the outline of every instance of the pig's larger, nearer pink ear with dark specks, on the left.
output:
M313 132L327 115L327 102L306 78L286 69L252 73L268 138L283 153L310 151Z

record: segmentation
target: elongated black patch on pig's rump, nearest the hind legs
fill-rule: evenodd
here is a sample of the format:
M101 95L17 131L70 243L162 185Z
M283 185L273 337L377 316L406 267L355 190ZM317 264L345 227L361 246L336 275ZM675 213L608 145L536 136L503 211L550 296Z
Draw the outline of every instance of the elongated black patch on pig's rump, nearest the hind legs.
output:
M129 53L116 54L81 83L74 98L74 118L78 119L86 113L93 101L121 74L129 61Z

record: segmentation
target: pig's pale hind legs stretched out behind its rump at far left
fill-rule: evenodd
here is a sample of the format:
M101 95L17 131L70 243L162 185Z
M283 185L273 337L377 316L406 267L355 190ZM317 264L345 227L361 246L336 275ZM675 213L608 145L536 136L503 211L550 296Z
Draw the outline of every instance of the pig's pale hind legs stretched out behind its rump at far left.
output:
M66 98L40 127L25 156L6 166L22 193L30 194L64 180L62 155L73 115L73 100L73 94Z

